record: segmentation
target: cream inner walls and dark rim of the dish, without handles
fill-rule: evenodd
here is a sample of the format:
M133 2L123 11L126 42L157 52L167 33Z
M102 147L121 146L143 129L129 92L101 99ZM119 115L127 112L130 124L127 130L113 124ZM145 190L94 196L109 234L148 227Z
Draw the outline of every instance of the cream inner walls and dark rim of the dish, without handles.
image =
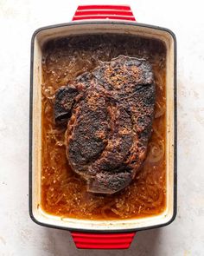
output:
M45 42L61 36L93 33L118 33L140 35L161 39L167 48L166 73L166 175L167 175L167 206L163 213L132 220L78 220L62 219L41 209L41 49ZM34 37L33 59L33 123L32 123L32 218L42 225L61 228L76 228L93 231L123 231L126 229L143 229L150 226L162 226L174 218L174 75L175 54L174 36L168 30L145 27L134 23L102 22L102 23L68 23L55 28L38 30Z

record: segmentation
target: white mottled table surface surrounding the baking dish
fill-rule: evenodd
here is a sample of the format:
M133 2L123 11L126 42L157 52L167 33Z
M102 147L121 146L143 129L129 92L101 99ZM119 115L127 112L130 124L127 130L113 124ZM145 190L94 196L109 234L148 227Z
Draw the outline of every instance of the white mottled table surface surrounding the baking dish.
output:
M131 3L137 21L169 28L177 37L177 217L170 226L137 233L129 250L90 251L77 250L66 231L37 226L28 210L30 38L41 26L70 21L78 2L0 1L0 256L204 255L202 2Z

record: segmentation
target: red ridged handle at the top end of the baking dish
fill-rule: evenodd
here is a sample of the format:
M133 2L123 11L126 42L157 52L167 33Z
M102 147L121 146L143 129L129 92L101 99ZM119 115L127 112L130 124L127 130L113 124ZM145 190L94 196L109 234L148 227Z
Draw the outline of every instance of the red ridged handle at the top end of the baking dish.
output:
M73 21L95 19L136 22L129 5L79 5L73 16Z

